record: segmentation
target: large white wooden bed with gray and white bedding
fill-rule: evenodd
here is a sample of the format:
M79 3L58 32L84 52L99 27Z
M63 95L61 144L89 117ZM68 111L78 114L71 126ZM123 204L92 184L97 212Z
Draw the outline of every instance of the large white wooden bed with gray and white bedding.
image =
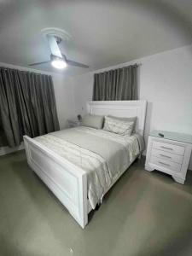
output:
M146 101L87 102L90 114L137 117L131 137L83 126L24 136L28 165L82 228L89 212L142 153L146 106Z

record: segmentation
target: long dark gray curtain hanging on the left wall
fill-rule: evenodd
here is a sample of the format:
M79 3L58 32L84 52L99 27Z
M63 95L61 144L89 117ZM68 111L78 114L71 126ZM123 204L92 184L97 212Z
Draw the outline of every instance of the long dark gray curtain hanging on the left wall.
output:
M20 145L23 135L59 130L51 76L0 67L0 116L9 147Z

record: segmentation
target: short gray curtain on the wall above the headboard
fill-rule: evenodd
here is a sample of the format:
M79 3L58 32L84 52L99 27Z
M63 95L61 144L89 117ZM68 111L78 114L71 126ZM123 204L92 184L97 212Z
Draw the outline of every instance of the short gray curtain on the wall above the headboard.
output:
M131 101L137 99L137 65L94 75L93 101Z

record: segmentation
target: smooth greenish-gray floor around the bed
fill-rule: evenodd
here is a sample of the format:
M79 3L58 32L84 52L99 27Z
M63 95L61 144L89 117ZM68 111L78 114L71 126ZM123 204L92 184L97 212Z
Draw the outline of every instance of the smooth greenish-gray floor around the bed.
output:
M26 164L0 157L0 256L192 255L192 172L185 185L137 161L82 230Z

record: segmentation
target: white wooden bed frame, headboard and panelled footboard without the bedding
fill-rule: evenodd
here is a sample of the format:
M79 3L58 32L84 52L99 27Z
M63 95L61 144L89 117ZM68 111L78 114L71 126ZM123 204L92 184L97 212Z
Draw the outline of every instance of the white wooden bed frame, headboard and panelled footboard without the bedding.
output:
M142 136L146 106L146 101L87 102L88 113L111 114L119 117L137 116L136 131ZM32 167L32 170L38 174L84 229L88 223L88 213L91 211L87 199L86 172L60 155L55 154L51 149L42 146L31 137L24 136L24 143L28 165ZM120 173L119 177L123 173Z

